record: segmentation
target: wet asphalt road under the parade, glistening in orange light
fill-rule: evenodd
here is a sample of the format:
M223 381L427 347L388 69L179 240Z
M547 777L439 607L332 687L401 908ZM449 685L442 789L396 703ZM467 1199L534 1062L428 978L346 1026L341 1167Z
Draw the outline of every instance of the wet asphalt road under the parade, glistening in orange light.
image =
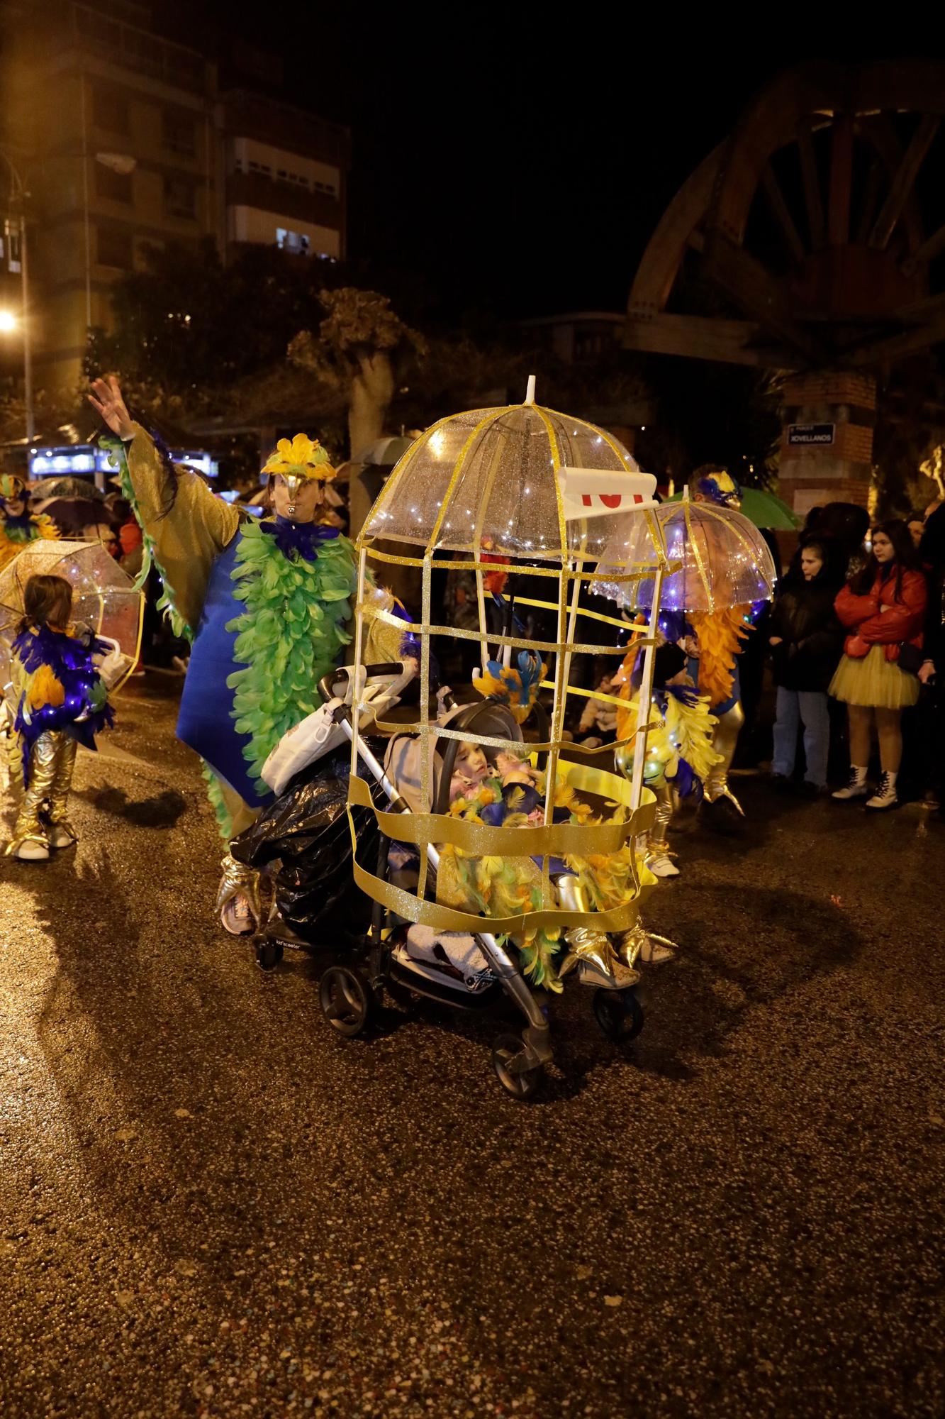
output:
M773 802L695 833L640 1040L558 1010L329 1034L214 925L165 681L0 863L0 1412L942 1415L945 839ZM7 829L9 830L9 829Z

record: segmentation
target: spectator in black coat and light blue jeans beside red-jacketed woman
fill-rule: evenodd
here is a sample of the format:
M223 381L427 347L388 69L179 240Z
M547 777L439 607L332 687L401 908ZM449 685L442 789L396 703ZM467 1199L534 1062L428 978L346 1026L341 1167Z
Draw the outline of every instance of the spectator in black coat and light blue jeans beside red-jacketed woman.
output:
M772 779L779 786L790 782L803 722L805 792L810 796L827 786L827 685L844 637L833 602L843 578L841 549L827 538L809 536L780 583L768 626L778 687Z

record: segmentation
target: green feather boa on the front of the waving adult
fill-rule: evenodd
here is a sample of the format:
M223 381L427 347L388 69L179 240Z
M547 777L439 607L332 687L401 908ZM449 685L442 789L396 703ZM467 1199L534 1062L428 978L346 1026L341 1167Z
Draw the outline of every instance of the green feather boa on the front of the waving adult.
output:
M258 522L243 528L233 569L234 596L245 610L227 623L236 631L227 685L250 778L284 734L321 705L318 681L350 641L346 622L358 585L355 552L345 536L319 546L318 558L287 558Z

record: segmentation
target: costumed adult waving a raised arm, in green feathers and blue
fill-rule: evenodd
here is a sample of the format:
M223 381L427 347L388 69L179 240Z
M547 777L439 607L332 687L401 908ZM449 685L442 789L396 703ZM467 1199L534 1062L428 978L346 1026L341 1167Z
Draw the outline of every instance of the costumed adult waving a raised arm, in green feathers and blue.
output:
M258 876L228 844L272 800L262 765L321 705L318 681L350 641L353 546L321 521L335 468L306 434L281 438L262 468L274 517L244 521L197 474L175 467L131 417L115 379L96 379L92 390L91 404L121 440L122 485L146 556L193 643L177 736L204 761L227 846L221 924L244 935L261 915Z

